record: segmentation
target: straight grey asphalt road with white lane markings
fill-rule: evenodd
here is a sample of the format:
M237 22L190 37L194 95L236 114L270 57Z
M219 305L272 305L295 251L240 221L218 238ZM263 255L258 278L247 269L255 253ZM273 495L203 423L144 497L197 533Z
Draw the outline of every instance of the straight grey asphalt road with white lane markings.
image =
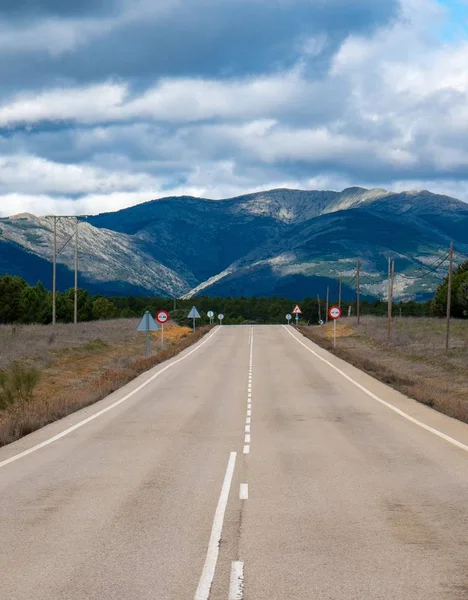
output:
M468 426L291 328L217 328L0 449L0 573L2 600L467 599Z

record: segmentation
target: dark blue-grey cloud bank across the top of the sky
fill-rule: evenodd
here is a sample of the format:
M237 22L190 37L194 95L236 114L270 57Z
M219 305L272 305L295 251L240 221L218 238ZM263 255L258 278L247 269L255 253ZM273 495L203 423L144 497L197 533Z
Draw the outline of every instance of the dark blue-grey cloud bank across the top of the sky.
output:
M49 0L35 18L6 20L0 27L3 89L41 87L57 79L121 77L147 85L161 76L261 73L290 67L311 36L326 32L323 62L350 33L372 31L398 13L397 0L168 0L158 5L133 0L116 11L110 10L115 3L98 2L95 14L94 4L85 2L67 14L70 2ZM109 14L103 14L104 7ZM15 14L29 15L29 9Z

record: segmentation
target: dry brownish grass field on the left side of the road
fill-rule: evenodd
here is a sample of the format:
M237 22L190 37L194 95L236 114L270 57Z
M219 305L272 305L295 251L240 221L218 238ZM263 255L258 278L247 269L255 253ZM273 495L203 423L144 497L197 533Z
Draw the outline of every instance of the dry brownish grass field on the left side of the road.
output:
M166 326L152 334L153 356L145 356L145 335L138 320L122 319L74 325L1 326L0 370L13 364L40 373L28 402L0 410L0 446L43 427L119 389L139 374L200 339L187 327Z

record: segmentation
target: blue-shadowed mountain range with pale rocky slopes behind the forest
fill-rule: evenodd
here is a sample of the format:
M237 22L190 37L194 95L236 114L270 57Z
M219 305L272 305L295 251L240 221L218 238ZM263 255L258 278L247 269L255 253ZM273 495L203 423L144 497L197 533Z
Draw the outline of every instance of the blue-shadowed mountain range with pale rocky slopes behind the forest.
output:
M72 236L58 223L58 247ZM51 285L53 220L0 219L0 273ZM392 193L277 189L226 200L153 200L80 217L80 285L107 295L385 297L387 257L395 259L395 298L426 299L447 270L453 241L468 255L468 204L428 191ZM73 247L60 252L58 287L73 282ZM435 268L435 270L434 270Z

